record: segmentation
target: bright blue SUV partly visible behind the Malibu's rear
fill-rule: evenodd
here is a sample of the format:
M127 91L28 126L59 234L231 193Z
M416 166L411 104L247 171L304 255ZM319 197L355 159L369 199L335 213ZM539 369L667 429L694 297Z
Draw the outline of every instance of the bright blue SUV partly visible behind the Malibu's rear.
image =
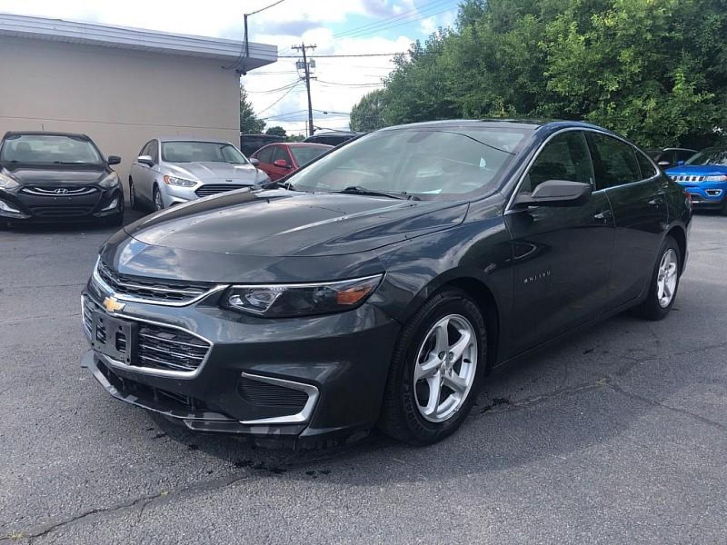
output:
M727 148L707 148L667 175L691 195L694 208L717 209L727 216Z

